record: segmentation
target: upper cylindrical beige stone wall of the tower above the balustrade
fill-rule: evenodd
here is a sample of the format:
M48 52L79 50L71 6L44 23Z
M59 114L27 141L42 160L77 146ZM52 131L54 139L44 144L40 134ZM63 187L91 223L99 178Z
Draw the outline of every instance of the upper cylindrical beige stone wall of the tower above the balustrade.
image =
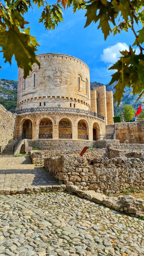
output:
M61 102L61 107L70 107L71 102L73 108L90 108L90 74L83 61L64 54L39 54L37 58L40 69L35 64L25 81L19 68L17 109L39 107L39 102L42 107L44 102L46 107L57 106L58 102Z

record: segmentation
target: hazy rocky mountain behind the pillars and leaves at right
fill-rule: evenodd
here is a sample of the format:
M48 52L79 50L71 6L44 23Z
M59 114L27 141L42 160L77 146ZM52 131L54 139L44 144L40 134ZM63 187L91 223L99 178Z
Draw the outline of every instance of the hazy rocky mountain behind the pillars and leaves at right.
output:
M99 82L91 82L90 86L91 86L91 90L93 90L93 88L101 86L104 84L101 84ZM113 83L112 85L106 84L106 91L112 91L113 94L115 93L115 89L114 86L116 85L116 82ZM124 93L124 98L122 98L121 103L119 106L117 106L117 103L114 104L114 115L115 116L120 116L120 114L123 111L123 106L124 105L132 105L134 107L135 110L138 109L139 105L144 101L144 97L139 99L138 101L136 101L138 99L138 95L134 95L130 93L131 92L131 88L125 87L125 93Z

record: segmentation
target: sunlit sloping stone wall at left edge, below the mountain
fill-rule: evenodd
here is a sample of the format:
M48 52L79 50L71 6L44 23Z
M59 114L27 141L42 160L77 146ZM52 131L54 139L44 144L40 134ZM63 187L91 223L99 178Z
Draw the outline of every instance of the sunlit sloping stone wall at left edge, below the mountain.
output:
M16 115L0 104L0 145L5 146L15 137Z

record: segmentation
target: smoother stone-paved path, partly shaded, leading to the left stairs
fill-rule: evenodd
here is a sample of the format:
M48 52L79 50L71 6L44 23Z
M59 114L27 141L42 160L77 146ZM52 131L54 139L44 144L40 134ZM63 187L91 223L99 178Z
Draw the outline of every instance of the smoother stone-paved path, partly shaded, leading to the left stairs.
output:
M48 171L32 164L28 156L0 157L0 189L57 184Z

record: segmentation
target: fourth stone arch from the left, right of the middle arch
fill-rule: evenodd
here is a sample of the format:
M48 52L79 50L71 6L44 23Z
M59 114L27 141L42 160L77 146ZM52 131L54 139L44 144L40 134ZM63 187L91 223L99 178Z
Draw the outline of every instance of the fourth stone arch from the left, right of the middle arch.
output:
M77 120L78 139L89 140L89 127L87 119L81 117Z

